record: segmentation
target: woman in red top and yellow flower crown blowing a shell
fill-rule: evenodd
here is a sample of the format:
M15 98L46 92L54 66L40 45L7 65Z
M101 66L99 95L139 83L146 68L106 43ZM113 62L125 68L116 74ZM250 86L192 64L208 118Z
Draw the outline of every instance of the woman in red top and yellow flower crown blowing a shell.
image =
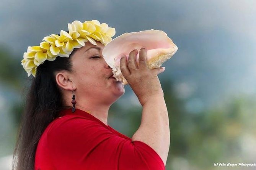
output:
M117 132L108 125L108 110L124 94L124 86L113 78L102 56L108 34L100 27L106 25L96 20L84 23L72 22L68 34L62 31L45 37L47 43L29 47L24 54L22 65L35 78L14 150L13 169L165 169L170 130L157 77L164 69L148 70L145 48L131 51L128 61L121 58L122 74L143 111L132 138ZM91 30L101 30L97 32L103 38ZM68 50L70 44L75 49ZM135 62L138 52L139 65Z

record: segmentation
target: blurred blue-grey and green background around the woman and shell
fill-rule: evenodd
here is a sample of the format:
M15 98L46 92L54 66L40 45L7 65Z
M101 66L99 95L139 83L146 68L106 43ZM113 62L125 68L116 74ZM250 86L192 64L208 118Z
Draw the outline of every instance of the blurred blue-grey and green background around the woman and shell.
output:
M1 0L0 169L10 169L32 77L21 66L28 46L97 19L125 32L165 31L178 46L160 79L171 144L166 170L230 169L256 163L255 0ZM108 124L131 137L142 106L131 88L111 106ZM232 167L256 169L256 167Z

